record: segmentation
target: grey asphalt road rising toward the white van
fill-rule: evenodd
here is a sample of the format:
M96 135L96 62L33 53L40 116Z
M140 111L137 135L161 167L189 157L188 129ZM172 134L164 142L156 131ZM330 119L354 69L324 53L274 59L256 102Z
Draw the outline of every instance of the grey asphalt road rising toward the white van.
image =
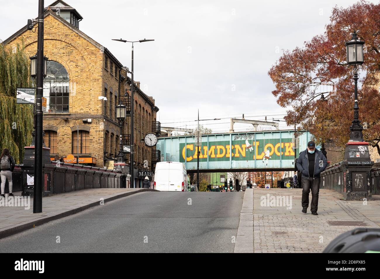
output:
M0 251L233 252L243 195L133 194L0 239Z

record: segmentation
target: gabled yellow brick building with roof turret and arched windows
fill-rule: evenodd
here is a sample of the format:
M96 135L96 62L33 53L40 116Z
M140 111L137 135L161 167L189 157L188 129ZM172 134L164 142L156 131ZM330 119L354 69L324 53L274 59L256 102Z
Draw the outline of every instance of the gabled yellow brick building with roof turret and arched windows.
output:
M124 97L125 89L130 96L131 79L106 47L79 30L82 19L63 1L45 8L44 55L49 60L44 79L44 142L51 148L52 158L58 155L76 162L79 157L79 163L111 168L120 143L116 106L120 98L124 103L128 99ZM27 55L35 55L37 25L35 22L33 30L24 26L3 44L16 47L23 43ZM135 82L135 88L135 168L152 171L152 150L143 145L141 138L152 131L158 108L154 99L140 90L139 82ZM130 134L129 117L124 121L123 134Z

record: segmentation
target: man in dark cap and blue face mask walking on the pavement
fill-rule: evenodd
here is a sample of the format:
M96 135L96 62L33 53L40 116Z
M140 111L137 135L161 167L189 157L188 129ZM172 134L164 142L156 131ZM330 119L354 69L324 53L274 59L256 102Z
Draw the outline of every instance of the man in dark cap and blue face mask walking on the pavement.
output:
M327 167L327 159L317 148L315 142L310 140L307 143L307 149L299 154L297 159L297 168L302 174L302 213L306 213L309 207L309 193L311 188L311 213L318 215L318 195L320 173Z

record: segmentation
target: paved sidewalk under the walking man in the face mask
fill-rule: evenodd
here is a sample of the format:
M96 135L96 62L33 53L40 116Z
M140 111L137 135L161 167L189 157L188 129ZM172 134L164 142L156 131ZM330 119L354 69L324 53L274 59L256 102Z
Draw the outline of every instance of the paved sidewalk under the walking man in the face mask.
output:
M287 206L275 206L269 197L288 198ZM318 215L301 212L302 189L254 189L254 251L260 252L322 252L338 235L356 227L379 227L380 199L344 201L342 195L321 189ZM265 198L265 199L264 199ZM269 201L273 198L269 198ZM311 192L309 196L311 202ZM291 208L290 208L291 204ZM279 205L279 204L277 204Z

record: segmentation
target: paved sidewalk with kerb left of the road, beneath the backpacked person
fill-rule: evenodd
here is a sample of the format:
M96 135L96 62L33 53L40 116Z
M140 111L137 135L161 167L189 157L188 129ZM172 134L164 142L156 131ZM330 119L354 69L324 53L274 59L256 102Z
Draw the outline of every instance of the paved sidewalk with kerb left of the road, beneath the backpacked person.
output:
M43 197L43 212L35 214L33 214L33 198L30 199L30 209L28 210L20 206L0 206L0 238L78 213L92 206L100 205L102 200L106 203L144 191L156 190L142 188L100 188L56 194ZM16 192L14 195L21 195L21 192ZM8 197L8 194L6 194L6 197Z

